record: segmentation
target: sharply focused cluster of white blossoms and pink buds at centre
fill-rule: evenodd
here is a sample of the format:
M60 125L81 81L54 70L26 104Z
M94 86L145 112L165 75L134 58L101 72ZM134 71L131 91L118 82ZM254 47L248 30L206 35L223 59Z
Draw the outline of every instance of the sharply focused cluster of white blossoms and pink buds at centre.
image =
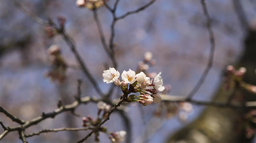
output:
M123 91L128 90L128 87L134 88L133 93L140 93L139 96L130 95L129 102L138 101L143 106L149 105L151 103L159 103L162 101L162 97L158 95L158 92L162 92L165 87L163 86L163 79L160 76L161 72L156 75L156 77L150 80L142 71L136 74L135 71L129 69L124 70L121 77L122 82L119 80L120 73L115 68L110 68L103 71L103 81L105 83L114 83L116 86L121 86ZM128 86L128 84L130 86ZM129 89L130 89L129 88Z

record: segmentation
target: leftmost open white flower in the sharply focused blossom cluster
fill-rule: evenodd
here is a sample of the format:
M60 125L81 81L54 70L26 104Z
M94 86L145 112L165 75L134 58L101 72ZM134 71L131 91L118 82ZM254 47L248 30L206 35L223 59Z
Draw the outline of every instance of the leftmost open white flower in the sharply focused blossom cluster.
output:
M103 82L105 83L113 83L116 79L119 78L120 73L115 68L110 68L108 70L103 71Z

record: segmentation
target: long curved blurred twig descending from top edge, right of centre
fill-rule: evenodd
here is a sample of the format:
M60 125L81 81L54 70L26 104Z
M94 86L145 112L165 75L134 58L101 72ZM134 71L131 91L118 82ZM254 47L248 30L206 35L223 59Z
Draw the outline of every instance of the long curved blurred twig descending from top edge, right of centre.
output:
M205 70L204 70L203 74L201 75L199 81L197 82L196 86L191 90L191 92L187 96L188 99L191 99L192 96L195 95L195 93L198 91L198 89L204 83L205 78L208 75L208 73L213 65L215 38L214 38L212 26L211 26L211 19L210 19L210 16L208 14L208 10L207 10L206 4L205 4L205 0L201 0L201 5L203 7L204 15L207 18L207 30L208 30L209 37L210 37L210 54L209 54L209 60L208 60L207 67L205 68Z

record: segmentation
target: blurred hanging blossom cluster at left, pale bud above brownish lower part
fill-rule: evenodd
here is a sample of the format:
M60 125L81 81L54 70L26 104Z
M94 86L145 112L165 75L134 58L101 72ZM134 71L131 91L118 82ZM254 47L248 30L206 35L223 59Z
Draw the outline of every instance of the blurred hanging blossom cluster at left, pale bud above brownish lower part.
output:
M58 45L52 45L48 48L48 54L50 55L52 68L46 76L50 77L52 81L59 80L64 82L66 79L67 65L61 56L61 51Z

